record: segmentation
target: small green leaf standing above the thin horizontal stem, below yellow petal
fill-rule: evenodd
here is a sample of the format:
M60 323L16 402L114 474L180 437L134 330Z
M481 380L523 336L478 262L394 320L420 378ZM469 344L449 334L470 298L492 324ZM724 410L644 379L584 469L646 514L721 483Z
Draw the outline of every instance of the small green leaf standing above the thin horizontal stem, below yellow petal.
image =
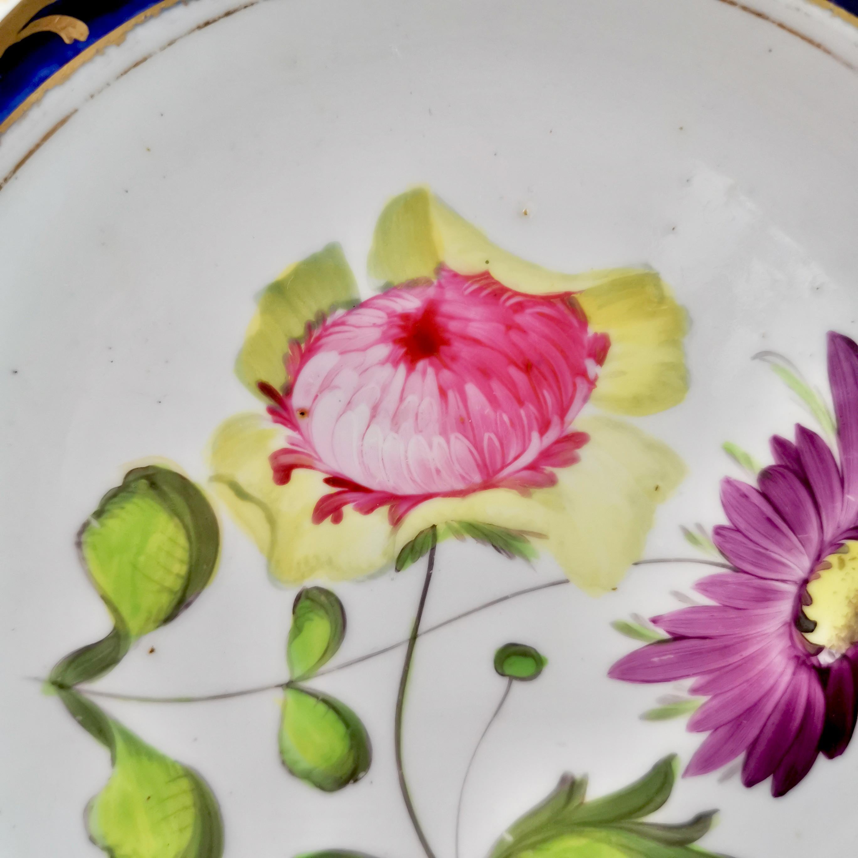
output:
M323 587L299 590L292 606L292 626L286 647L289 675L307 680L329 662L346 636L342 602Z

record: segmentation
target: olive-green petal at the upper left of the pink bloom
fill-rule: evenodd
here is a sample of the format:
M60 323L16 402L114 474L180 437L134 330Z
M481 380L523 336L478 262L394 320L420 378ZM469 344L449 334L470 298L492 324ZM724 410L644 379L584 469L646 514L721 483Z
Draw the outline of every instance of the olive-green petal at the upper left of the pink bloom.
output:
M307 325L358 301L357 283L340 245L326 245L286 269L259 299L235 362L239 381L261 399L259 382L282 390L288 381L284 358L290 343L304 338Z

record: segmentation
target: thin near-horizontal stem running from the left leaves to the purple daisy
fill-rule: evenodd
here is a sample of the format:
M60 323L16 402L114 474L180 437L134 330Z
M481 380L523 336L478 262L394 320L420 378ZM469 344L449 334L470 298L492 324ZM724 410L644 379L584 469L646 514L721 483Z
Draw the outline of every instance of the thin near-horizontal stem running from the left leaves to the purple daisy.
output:
M704 560L692 557L662 557L652 560L637 560L632 565L644 566L658 563L696 563L704 566L717 566L720 569L728 569L730 571L735 571L735 567L728 563L722 563L718 560ZM529 595L529 593L537 593L543 589L559 587L561 584L568 583L568 578L555 578L553 581L548 581L547 583L535 584L533 587L525 587L523 589L513 590L513 592L511 593L498 596L497 599L492 599L490 601L483 602L481 605L468 608L467 611L457 613L454 617L449 617L448 619L441 620L440 623L430 625L427 628L423 629L423 631L418 632L417 637L422 637L423 635L427 635L432 631L438 631L438 629L443 629L445 626L452 625L453 623L458 622L460 619L465 619L466 617L472 616L474 613L480 613L481 611L485 611L490 607L495 607L495 605L503 604L505 601L517 599L520 595ZM385 653L392 652L393 650L398 650L401 646L405 646L405 644L408 644L409 639L410 638L406 638L405 640L396 641L396 644L388 644L387 646L382 647L380 650L372 650L372 652L365 653L363 656L357 656L356 658L349 659L347 662L340 662L340 664L335 664L329 668L323 668L316 674L316 676L319 677L327 676L328 674L335 674L338 670L345 670L345 668L351 668L356 664L368 662L370 661L370 659L376 658L377 656L384 656ZM34 679L37 682L45 681L39 679L38 677L35 677ZM265 686L241 688L239 689L239 691L235 692L223 692L221 694L203 694L192 697L149 697L147 695L140 694L123 694L119 692L102 692L96 691L94 689L90 690L85 686L76 686L76 689L78 692L81 692L82 694L87 694L89 697L100 697L111 700L126 700L130 703L205 703L206 701L210 700L228 700L230 698L245 697L248 694L260 694L262 692L276 691L278 688L284 688L285 686L287 686L288 681L289 680L283 680L282 682L272 682L269 683L269 685Z

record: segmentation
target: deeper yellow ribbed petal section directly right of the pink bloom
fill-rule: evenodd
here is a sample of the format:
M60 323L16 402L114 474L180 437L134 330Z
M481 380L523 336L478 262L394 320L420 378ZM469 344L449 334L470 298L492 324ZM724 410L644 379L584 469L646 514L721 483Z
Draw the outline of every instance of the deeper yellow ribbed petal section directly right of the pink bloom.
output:
M631 271L577 296L590 328L611 337L592 402L614 414L655 414L688 392L686 311L655 271Z

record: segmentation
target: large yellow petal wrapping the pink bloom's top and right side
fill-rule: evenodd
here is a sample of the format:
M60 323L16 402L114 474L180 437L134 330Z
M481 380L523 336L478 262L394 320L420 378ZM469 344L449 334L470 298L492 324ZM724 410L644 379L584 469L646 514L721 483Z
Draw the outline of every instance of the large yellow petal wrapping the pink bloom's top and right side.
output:
M525 262L493 245L426 188L408 190L384 208L368 269L381 282L431 277L439 263L461 274L489 273L531 294L578 293L590 327L611 337L593 402L614 414L655 414L688 390L686 312L655 271L601 269L567 275Z

